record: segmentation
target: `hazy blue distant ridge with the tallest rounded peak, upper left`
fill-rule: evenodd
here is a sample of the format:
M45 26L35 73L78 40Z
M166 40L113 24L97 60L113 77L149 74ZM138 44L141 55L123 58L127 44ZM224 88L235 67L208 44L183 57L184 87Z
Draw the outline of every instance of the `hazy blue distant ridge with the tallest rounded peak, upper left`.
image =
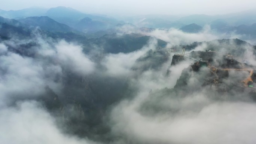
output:
M53 7L50 9L28 8L28 9L22 9L22 10L9 10L9 11L0 10L0 16L3 16L4 18L21 19L21 21L24 21L24 19L27 17L48 16L49 18L54 19L59 23L68 25L69 27L74 28L76 30L80 30L82 32L88 32L88 31L95 32L95 31L106 29L106 28L111 28L118 23L123 23L121 21L118 21L114 18L110 18L107 16L86 14L78 10L72 9L70 7L63 7L63 6ZM83 19L85 18L92 19L92 24L83 21ZM31 18L30 18L30 22L31 22ZM35 21L33 23L35 23ZM40 23L37 23L37 25L40 25ZM40 26L43 27L43 24L41 24ZM64 27L64 26L62 25L61 27ZM55 27L54 29L57 29L57 27Z

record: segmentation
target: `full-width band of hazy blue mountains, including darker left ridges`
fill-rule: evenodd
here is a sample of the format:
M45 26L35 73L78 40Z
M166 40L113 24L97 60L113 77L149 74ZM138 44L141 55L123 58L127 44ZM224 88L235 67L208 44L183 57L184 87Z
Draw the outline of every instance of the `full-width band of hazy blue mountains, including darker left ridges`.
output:
M30 25L51 32L85 33L90 37L116 33L118 32L116 31L118 24L132 23L136 27L160 28L162 30L176 28L187 33L198 33L204 25L210 25L214 33L240 34L243 35L242 37L246 37L242 38L244 40L256 38L256 10L214 16L144 15L128 17L125 22L106 15L86 14L63 6L50 9L32 7L21 10L0 10L0 16L3 16L0 17L0 22L3 23L7 22L4 18L18 20L8 20L7 24L12 26L27 27L26 25Z

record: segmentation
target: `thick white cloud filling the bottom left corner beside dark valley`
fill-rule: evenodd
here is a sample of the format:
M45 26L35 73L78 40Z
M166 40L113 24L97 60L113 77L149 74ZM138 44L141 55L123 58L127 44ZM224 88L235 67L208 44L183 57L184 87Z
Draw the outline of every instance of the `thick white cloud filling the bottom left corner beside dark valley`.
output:
M63 134L43 107L35 102L19 102L0 110L1 144L92 144Z

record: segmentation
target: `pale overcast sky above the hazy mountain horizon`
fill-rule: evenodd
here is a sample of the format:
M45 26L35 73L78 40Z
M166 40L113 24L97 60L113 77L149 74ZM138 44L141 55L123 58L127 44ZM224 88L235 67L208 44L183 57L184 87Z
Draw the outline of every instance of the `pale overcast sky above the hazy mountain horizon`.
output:
M225 14L256 9L256 0L5 0L0 9L66 6L100 14Z

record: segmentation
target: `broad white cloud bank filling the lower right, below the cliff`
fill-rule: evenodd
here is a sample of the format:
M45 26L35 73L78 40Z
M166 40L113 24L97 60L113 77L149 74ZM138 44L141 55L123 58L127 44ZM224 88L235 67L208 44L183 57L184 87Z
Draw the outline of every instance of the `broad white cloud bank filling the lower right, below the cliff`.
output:
M180 110L154 117L140 113L138 100L124 102L113 111L113 132L144 143L253 144L256 106L246 102L209 102L204 95L159 100L156 105ZM173 97L170 95L170 97ZM178 106L178 107L176 107Z

